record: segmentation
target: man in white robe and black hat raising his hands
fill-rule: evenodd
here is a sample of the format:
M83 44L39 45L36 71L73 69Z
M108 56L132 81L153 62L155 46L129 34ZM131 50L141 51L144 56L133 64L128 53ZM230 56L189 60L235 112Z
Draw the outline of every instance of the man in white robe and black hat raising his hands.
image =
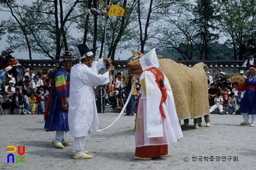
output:
M90 159L92 155L84 150L86 136L91 129L98 128L97 107L94 96L94 86L104 85L109 82L109 72L114 67L110 66L105 74L98 74L104 67L104 62L110 63L110 58L101 58L94 61L94 54L89 51L80 58L80 63L72 67L70 74L69 93L69 131L74 139L75 159ZM90 67L91 66L91 67Z

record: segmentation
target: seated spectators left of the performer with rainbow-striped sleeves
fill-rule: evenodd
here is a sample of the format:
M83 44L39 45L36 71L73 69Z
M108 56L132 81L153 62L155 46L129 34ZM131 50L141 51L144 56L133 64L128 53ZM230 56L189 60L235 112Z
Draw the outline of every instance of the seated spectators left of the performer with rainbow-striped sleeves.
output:
M26 66L22 66L21 72L18 72L20 80L17 81L11 69L7 70L4 67L0 65L1 96L4 98L1 107L10 108L11 114L15 107L26 109L23 114L44 114L52 81L48 77L48 71L42 69L42 73L35 74L34 68L27 69Z

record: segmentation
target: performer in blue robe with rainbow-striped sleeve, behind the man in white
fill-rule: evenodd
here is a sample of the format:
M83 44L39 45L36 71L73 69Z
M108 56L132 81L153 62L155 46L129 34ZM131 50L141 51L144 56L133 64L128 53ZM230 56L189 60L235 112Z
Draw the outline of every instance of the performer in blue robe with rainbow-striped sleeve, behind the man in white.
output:
M65 142L64 132L69 131L67 114L70 82L69 74L73 58L69 50L60 57L61 66L54 75L53 87L45 109L45 129L46 131L56 131L56 139L53 140L52 144L59 149L71 145L69 142Z

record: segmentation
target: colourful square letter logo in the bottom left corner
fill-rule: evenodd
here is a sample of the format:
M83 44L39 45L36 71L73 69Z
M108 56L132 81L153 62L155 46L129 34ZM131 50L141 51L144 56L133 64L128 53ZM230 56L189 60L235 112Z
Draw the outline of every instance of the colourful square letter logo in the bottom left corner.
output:
M14 153L18 152L18 155L15 157ZM7 146L7 163L25 163L25 152L26 152L26 147L25 146Z

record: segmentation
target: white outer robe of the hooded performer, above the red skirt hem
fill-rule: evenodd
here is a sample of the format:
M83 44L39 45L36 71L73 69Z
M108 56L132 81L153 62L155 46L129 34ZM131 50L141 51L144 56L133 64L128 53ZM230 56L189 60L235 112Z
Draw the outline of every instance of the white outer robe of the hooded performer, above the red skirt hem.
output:
M165 112L166 118L162 117L159 110L162 93L157 86L157 82L155 82L154 74L144 71L140 75L140 84L142 86L143 80L146 81L146 93L143 87L141 87L141 96L135 123L136 147L173 144L177 142L177 139L183 137L183 134L181 125L178 122L173 91L170 88L167 77L164 74L167 98L162 103L162 109Z

